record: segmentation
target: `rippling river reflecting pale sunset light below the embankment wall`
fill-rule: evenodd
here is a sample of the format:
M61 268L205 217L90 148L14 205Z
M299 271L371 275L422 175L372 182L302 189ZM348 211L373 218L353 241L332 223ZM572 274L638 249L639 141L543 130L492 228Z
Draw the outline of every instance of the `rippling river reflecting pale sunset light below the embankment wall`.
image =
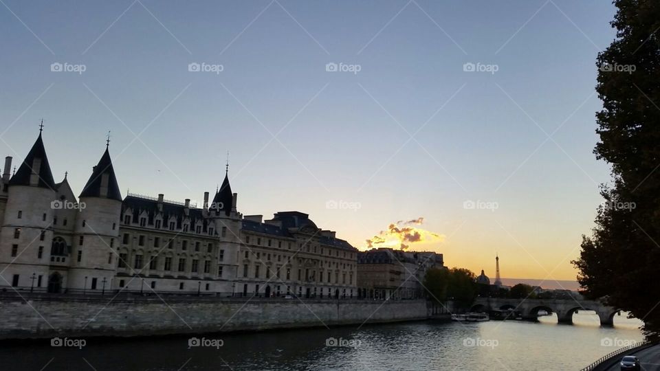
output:
M597 321L580 313L572 326L549 316L199 335L192 347L188 336L89 338L81 349L44 340L2 344L0 370L579 370L642 339L636 319Z

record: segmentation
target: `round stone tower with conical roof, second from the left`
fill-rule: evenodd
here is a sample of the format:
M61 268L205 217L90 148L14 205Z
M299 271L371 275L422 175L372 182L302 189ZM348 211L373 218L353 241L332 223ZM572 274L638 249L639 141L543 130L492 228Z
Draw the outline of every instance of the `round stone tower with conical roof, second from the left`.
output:
M80 193L69 288L101 291L112 286L117 266L122 196L106 147Z

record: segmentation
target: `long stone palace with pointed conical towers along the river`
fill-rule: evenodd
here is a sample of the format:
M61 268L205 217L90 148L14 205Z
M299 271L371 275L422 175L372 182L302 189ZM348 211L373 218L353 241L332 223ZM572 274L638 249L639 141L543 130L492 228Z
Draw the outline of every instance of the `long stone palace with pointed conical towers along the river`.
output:
M0 183L0 286L52 293L107 290L301 297L357 295L357 249L307 214L243 216L228 169L209 203L127 194L108 146L80 200L55 183L41 131Z

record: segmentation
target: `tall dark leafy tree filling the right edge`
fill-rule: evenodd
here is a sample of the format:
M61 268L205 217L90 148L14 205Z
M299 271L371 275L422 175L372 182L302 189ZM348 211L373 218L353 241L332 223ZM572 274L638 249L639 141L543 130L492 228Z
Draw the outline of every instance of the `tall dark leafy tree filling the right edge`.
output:
M615 0L617 36L597 59L597 159L612 166L592 236L583 236L582 294L630 311L660 336L660 3Z

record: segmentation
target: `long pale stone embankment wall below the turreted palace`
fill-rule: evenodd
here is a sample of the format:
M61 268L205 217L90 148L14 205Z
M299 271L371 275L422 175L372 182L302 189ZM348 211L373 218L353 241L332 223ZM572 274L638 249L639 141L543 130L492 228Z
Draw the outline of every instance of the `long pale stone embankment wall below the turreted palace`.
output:
M0 340L226 333L428 318L425 300L43 294L0 297L0 313Z

